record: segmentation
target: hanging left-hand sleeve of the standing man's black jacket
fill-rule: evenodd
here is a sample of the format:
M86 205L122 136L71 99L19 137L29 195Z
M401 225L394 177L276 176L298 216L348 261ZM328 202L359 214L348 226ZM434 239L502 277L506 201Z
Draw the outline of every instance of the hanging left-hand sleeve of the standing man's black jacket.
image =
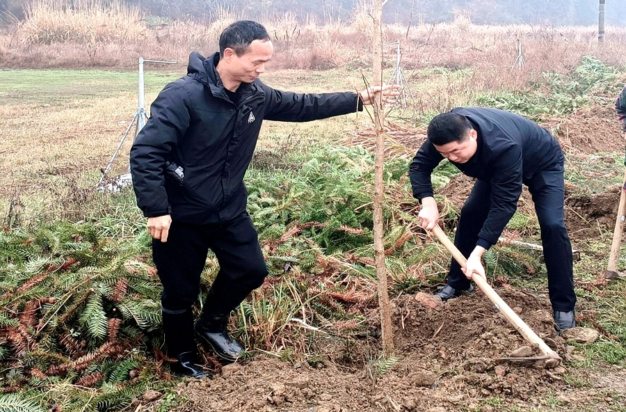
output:
M188 95L169 84L150 106L150 119L135 138L130 152L133 188L144 216L170 214L164 164L175 142L189 126Z

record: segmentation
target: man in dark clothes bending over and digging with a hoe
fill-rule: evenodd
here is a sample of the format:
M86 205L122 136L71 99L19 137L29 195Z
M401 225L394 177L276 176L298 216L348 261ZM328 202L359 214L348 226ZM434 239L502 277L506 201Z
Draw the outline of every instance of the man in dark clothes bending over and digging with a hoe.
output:
M485 277L481 257L513 217L522 184L526 184L539 220L556 329L573 328L576 295L572 246L563 221L564 157L559 142L521 116L474 107L436 116L427 135L410 165L413 196L422 203L418 219L423 228L431 230L439 219L431 173L442 159L476 177L454 239L467 258L467 267L464 270L453 260L447 285L437 295L447 300L471 292L470 278Z

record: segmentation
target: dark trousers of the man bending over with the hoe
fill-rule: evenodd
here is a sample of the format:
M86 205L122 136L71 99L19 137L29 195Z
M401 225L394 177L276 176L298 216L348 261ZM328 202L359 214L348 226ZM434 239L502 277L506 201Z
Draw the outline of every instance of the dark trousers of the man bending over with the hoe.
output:
M524 184L532 195L539 220L552 309L568 312L574 309L576 295L572 273L572 245L564 221L563 165L538 171L531 179L524 180ZM461 209L454 244L466 258L474 251L479 232L487 219L490 195L490 183L476 180L472 193ZM454 259L448 274L448 285L458 290L467 290L470 287L470 280L465 277Z

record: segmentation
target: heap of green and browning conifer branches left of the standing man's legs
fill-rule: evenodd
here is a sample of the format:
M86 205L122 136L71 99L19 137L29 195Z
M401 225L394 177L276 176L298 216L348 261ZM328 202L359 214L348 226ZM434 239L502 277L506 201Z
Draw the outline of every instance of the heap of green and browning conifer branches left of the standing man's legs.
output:
M61 382L74 389L41 397L63 411L112 410L157 379L154 370L138 379L154 369L147 354L161 344L161 287L141 258L148 246L86 223L0 233L0 379L8 385L0 411L41 410L24 389ZM97 397L80 387L99 388Z

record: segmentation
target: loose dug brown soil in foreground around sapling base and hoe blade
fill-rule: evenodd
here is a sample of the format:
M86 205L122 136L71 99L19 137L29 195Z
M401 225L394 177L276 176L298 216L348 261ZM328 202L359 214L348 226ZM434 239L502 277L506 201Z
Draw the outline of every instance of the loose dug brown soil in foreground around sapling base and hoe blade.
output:
M191 400L172 411L540 411L549 409L548 399L578 411L591 399L607 407L624 402L626 373L619 367L597 374L595 385L572 386L591 372L570 367L579 349L554 332L545 296L511 288L497 292L561 354L561 366L548 370L498 361L528 344L481 292L437 308L400 296L392 301L398 360L385 373L376 374L371 359L370 367L364 359L380 351L372 338L380 333L380 316L371 309L370 338L312 336L335 340L342 348L331 350L328 361L309 365L256 358L227 365L213 379L179 384L177 392ZM144 404L141 411L154 411L159 402Z

